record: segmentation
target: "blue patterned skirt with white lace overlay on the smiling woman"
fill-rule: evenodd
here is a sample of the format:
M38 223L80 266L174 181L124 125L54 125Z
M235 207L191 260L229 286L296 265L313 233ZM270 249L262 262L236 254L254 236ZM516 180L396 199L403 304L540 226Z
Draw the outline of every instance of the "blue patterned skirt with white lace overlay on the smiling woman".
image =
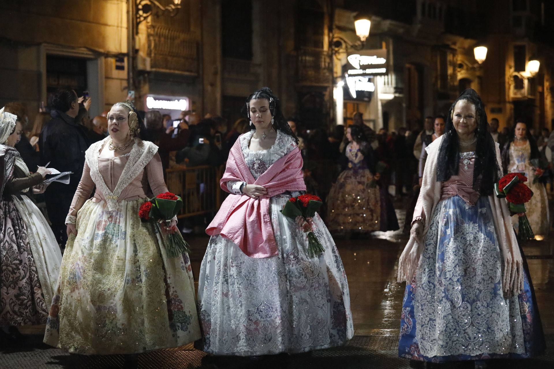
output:
M540 354L545 342L525 258L524 271L524 290L505 298L486 196L473 206L459 196L440 201L404 293L398 355L443 362Z

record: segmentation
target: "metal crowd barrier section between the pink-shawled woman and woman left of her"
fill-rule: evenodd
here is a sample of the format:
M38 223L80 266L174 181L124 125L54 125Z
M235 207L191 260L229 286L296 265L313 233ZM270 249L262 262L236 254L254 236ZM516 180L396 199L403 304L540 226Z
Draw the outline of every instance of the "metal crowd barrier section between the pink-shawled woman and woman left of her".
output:
M219 180L223 168L200 165L184 169L167 169L167 189L181 196L183 208L179 218L216 212L223 201Z

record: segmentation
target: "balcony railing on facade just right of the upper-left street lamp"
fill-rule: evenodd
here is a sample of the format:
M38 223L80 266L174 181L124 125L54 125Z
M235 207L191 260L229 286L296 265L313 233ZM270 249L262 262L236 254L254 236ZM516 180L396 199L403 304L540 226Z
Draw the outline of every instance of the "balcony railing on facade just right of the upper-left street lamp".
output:
M194 34L149 25L148 56L152 69L198 74L198 40Z

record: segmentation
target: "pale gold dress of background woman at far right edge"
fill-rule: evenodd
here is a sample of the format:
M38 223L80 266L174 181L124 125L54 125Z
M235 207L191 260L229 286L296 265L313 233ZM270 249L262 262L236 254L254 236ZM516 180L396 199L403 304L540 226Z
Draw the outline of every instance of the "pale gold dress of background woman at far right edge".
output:
M525 209L526 215L529 219L529 224L535 235L548 235L550 230L550 214L548 211L548 198L546 196L545 186L538 182L533 184L533 178L535 170L531 165L531 145L529 141L523 146L510 145L510 162L508 164L509 173L525 173L527 182L525 183L531 191L533 191L533 197L527 204ZM512 224L518 228L519 217L517 215L512 216Z

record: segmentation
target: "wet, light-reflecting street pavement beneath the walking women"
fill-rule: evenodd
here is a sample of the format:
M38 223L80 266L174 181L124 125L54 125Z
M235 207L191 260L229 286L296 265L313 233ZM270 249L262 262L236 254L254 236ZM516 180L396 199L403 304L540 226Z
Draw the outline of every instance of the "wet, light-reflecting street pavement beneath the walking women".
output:
M41 343L44 326L29 326L22 329L28 335L26 344L0 348L0 368L409 368L409 361L398 358L397 353L404 284L396 283L396 266L407 236L401 232L375 232L371 239L336 238L335 241L348 276L355 328L355 337L346 346L253 360L213 357L188 345L141 354L137 365L126 363L121 355L68 355ZM208 237L193 237L189 242L197 281ZM524 246L524 252L535 285L547 352L532 360L490 362L491 368L554 367L554 240L530 241ZM473 364L448 363L433 367L471 368Z

